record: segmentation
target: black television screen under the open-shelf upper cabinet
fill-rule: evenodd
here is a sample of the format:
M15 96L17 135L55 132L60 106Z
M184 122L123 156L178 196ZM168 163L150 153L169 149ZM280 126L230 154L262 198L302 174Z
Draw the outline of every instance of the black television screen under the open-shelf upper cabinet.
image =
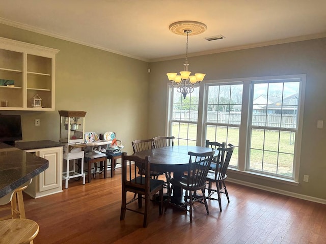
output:
M0 114L0 141L13 145L22 140L20 115Z

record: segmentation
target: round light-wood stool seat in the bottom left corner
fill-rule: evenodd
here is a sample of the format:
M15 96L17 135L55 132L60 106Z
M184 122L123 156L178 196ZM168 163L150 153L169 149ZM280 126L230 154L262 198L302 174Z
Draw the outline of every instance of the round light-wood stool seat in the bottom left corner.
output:
M29 219L0 221L0 244L33 244L39 225Z

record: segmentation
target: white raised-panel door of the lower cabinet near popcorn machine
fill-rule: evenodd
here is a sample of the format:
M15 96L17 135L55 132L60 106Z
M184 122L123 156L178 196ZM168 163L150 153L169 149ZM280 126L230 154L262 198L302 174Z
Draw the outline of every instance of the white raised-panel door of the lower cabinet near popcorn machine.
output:
M62 187L62 147L40 149L39 157L49 161L49 167L39 174L39 191Z

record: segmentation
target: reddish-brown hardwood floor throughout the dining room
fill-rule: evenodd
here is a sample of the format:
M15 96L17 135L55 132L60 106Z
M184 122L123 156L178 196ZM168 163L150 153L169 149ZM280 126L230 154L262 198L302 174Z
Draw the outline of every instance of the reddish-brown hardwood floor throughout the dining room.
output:
M100 174L86 185L71 179L63 193L39 199L24 194L26 218L40 226L34 243L326 243L326 205L231 182L222 212L217 201L208 200L209 215L195 203L189 224L188 213L168 208L159 216L152 203L143 228L143 216L134 212L120 221L120 181L118 169L114 178Z

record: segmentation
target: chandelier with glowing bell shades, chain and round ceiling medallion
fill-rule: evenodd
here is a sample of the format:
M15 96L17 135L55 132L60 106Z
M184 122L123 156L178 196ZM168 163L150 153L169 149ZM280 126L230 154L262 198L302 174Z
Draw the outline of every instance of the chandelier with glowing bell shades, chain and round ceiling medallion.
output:
M185 99L187 94L192 93L195 87L203 81L206 74L195 73L190 75L192 72L188 70L188 37L189 35L198 35L206 31L207 26L197 21L179 21L169 26L170 31L178 35L186 35L186 52L185 62L183 64L184 70L180 71L180 75L177 73L167 73L168 79L171 81L172 86L177 88L177 92L183 95Z

